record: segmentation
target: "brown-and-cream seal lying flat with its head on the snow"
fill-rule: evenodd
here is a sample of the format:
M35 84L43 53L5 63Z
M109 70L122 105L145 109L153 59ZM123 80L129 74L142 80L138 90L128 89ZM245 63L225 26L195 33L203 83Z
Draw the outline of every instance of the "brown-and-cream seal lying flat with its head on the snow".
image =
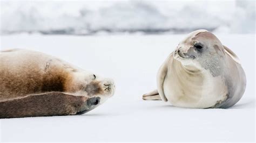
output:
M114 83L50 55L0 52L0 118L80 115L104 103Z

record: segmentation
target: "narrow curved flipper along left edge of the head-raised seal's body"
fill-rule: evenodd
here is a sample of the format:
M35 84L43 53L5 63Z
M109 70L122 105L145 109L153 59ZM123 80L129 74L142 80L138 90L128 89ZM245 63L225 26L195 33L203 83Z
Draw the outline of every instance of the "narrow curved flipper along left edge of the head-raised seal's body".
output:
M166 76L167 71L168 71L168 63L172 59L173 59L173 52L165 60L165 62L160 67L160 69L158 70L158 73L157 73L157 90L158 90L158 93L159 93L161 99L164 102L167 102L167 98L164 95L164 80L165 80L165 76Z

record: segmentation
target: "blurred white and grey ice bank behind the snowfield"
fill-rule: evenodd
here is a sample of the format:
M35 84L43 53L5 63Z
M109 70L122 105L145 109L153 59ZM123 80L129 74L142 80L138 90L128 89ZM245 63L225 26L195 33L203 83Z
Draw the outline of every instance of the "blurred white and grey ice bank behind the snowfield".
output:
M1 34L255 33L255 1L1 1Z

